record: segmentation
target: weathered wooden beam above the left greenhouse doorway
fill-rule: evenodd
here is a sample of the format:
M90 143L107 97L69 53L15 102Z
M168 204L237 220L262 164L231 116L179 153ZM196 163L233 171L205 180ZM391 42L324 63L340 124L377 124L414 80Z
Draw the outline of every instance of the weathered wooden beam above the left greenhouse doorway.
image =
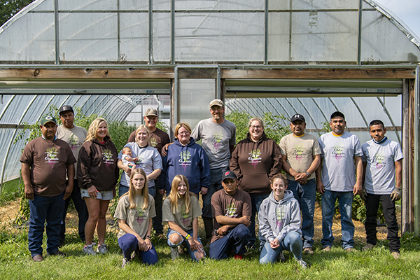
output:
M173 68L0 68L1 79L169 79Z

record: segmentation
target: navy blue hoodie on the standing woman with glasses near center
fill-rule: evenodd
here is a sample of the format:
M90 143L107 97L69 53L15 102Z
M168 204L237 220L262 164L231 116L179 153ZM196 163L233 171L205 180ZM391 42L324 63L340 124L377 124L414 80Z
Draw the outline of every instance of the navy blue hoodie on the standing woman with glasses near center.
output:
M169 146L168 155L163 158L165 163L166 182L165 190L171 191L172 180L176 175L186 176L190 186L190 192L196 195L200 193L201 187L210 186L210 166L207 154L199 144L190 137L187 146L181 145L178 139Z

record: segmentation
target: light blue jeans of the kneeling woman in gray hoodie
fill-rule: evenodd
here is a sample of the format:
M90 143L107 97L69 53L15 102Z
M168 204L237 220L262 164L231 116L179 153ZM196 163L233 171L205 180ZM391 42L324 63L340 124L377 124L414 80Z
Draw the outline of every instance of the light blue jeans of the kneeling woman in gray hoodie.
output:
M283 240L280 241L280 246L273 249L269 241L265 242L260 253L260 264L274 263L281 251L286 250L293 253L296 260L302 258L302 238L297 232L289 232Z

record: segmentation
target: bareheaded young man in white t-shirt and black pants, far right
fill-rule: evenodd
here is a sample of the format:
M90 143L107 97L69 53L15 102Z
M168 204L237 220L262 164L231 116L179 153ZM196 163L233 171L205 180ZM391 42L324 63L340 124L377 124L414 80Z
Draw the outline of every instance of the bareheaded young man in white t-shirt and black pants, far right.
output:
M400 144L389 140L381 120L372 120L369 125L372 140L362 145L364 169L364 191L366 205L366 246L363 251L377 244L377 213L382 204L386 228L388 229L389 251L394 258L400 258L400 238L395 215L395 200L401 198L402 151Z

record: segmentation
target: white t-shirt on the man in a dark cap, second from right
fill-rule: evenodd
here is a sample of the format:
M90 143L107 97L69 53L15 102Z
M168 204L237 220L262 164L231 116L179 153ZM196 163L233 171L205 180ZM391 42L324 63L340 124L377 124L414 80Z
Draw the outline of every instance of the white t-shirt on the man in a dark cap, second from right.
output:
M356 183L353 157L361 157L362 149L356 135L344 132L335 136L332 132L318 139L323 158L321 181L325 190L352 192Z

